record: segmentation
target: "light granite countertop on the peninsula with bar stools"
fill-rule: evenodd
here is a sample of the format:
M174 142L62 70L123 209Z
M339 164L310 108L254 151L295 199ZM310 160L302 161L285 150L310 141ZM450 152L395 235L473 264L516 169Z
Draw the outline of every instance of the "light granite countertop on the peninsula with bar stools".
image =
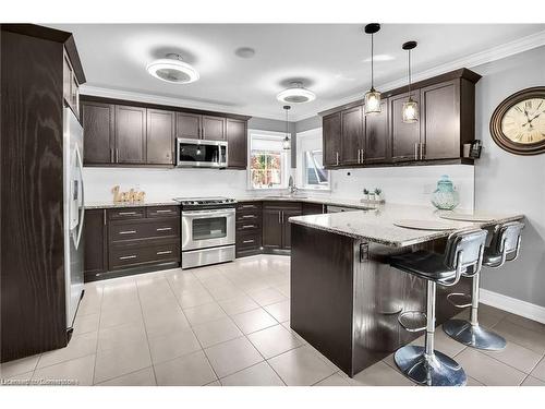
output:
M460 213L463 213L462 210ZM348 236L358 240L367 240L380 244L402 248L423 243L447 237L455 230L467 228L492 226L498 222L522 219L521 214L483 214L489 216L491 221L471 222L446 220L439 217L439 213L431 206L411 206L399 204L383 204L376 209L353 210L311 216L290 217L289 221L295 225L306 226L318 230ZM452 225L451 230L416 230L393 225L395 220L419 219L436 220L441 224Z

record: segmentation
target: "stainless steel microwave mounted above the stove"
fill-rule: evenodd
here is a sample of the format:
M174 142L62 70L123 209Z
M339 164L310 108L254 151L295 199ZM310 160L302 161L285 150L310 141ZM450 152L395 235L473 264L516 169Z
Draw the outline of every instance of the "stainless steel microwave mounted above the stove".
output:
M178 168L227 168L227 141L204 141L178 137L175 166Z

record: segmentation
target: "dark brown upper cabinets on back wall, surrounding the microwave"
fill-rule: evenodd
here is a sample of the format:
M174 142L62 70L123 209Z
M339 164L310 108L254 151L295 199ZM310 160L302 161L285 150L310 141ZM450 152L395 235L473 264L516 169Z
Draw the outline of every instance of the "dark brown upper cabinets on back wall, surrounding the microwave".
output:
M175 139L182 137L227 140L229 168L246 168L250 117L222 117L177 109L82 97L84 165L172 167Z

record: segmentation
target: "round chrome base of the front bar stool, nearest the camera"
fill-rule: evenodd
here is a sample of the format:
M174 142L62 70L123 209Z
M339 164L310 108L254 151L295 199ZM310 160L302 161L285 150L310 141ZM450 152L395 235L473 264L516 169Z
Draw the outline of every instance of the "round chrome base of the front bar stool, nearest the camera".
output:
M396 351L393 360L407 377L421 385L463 386L468 381L458 362L439 351L426 356L424 347L404 346Z

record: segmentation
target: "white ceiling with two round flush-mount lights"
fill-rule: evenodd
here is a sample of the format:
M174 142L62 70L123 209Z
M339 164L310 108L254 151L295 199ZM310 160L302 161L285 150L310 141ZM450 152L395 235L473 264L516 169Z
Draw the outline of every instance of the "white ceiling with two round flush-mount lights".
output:
M302 80L316 93L313 103L296 105L299 120L354 98L370 86L370 37L364 24L62 24L72 32L87 88L143 94L177 105L283 119L276 94L290 80ZM375 84L403 79L407 52L401 44L416 40L415 73L545 31L545 24L384 24L375 36ZM251 59L240 47L255 48ZM152 77L146 64L178 52L201 74L196 83L175 85ZM172 103L172 99L170 99Z

